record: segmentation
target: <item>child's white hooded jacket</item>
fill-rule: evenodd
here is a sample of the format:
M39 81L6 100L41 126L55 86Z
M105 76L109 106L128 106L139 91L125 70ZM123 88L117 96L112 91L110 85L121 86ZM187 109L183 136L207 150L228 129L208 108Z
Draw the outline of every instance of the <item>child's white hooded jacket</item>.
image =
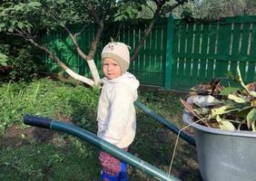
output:
M97 135L118 148L129 147L135 137L133 102L137 100L138 87L139 81L127 71L116 79L105 79L103 84L98 103Z

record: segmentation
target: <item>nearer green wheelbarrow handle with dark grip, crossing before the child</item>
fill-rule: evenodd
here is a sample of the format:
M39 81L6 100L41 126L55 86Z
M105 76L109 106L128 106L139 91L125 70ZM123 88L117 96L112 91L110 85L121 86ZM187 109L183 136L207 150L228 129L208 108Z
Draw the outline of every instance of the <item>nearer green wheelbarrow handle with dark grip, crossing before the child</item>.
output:
M29 115L26 115L24 117L24 123L26 125L40 127L44 129L60 130L65 133L74 135L78 138L88 141L89 143L94 145L96 148L100 148L108 152L109 154L113 155L113 157L117 157L123 160L124 162L142 170L146 174L153 176L158 180L162 180L162 181L178 181L179 180L174 176L170 176L166 174L161 169L154 167L153 165L143 161L139 157L135 157L132 154L126 151L123 151L123 149L115 147L114 145L103 140L102 138L97 137L90 131L81 129L72 123L67 123L67 122L53 120L53 119L45 119L45 118L29 116Z

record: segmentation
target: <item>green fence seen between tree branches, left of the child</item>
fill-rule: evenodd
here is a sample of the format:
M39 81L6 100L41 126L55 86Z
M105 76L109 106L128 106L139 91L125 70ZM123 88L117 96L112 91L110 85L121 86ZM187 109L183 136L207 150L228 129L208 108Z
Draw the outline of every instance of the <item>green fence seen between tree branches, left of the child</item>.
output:
M72 29L73 33L79 33L79 31L80 29L78 28ZM94 29L87 29L77 37L77 42L80 44L81 49L84 52L88 52L90 42L93 40L94 35ZM54 54L58 56L61 61L67 64L69 68L81 75L90 76L87 62L84 62L78 53L74 51L74 45L64 30L57 30L44 35L43 37L44 43L51 50L51 52L54 52ZM99 53L95 55L95 60L98 59ZM49 71L63 72L63 70L61 70L57 63L55 63L52 59L44 55L44 60Z

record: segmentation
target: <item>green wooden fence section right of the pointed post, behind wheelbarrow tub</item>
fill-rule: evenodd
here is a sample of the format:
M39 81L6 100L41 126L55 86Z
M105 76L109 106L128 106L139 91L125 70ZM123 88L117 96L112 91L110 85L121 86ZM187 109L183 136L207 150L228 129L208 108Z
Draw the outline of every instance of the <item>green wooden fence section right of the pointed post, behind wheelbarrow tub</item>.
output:
M256 81L256 16L223 18L217 22L169 20L172 41L165 85L186 90L195 84L226 77L240 66L243 80ZM169 35L171 36L171 35ZM171 44L171 45L170 45ZM171 79L170 79L171 77Z

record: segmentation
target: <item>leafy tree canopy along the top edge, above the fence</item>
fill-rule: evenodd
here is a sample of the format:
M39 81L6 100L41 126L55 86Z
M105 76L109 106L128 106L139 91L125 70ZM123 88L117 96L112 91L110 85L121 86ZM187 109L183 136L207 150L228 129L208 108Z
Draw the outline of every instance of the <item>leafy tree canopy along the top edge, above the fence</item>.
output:
M142 14L145 10L154 12L156 5L162 4L162 10L169 9L175 3L183 1L160 0L123 0L123 1L68 1L64 0L28 0L25 3L6 1L0 6L0 32L23 30L34 34L44 28L51 30L68 24L91 24L94 19L88 11L88 3L94 5L100 20L104 23L120 20L134 20L146 18ZM149 8L146 8L149 7ZM170 13L167 12L167 13ZM152 18L153 16L151 16Z

